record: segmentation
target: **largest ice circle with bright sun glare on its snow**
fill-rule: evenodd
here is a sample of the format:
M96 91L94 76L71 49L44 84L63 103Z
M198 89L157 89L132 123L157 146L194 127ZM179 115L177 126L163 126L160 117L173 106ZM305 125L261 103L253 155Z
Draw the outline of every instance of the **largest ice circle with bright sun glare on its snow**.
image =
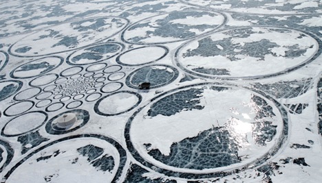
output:
M144 166L180 178L212 178L257 166L276 154L288 135L286 111L263 95L215 83L171 90L129 119L127 147Z

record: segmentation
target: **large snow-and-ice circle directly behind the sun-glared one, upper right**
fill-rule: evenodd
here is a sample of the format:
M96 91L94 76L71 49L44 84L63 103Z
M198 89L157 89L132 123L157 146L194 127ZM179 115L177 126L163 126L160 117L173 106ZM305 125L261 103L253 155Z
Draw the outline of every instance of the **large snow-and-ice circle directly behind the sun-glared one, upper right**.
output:
M202 77L252 79L288 73L319 56L316 36L275 27L229 29L182 45L175 61Z

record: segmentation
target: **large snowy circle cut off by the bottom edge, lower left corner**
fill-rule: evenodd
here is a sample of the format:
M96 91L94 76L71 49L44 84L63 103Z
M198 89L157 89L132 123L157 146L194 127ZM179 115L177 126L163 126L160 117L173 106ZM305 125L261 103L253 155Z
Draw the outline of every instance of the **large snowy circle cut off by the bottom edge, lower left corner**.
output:
M63 182L71 178L78 182L116 182L126 161L126 151L112 138L98 134L67 136L25 156L4 175L3 182L21 180L21 171L26 173L24 182L41 182L44 178Z

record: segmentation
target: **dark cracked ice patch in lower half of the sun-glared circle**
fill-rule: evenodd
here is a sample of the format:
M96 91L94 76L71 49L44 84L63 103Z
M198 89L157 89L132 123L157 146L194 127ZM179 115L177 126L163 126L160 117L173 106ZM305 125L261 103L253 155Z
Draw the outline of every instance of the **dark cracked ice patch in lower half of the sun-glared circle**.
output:
M200 132L193 138L171 145L171 153L164 156L158 149L151 149L148 154L164 164L184 169L213 169L225 167L241 161L238 145L228 130L214 127Z

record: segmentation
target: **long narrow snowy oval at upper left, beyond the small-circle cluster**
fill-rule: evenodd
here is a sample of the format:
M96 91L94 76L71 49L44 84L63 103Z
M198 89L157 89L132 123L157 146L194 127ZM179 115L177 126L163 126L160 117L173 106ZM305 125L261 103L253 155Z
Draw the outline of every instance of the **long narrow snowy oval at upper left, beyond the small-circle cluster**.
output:
M119 17L98 17L47 27L14 43L14 56L45 56L71 51L114 36L129 21Z

